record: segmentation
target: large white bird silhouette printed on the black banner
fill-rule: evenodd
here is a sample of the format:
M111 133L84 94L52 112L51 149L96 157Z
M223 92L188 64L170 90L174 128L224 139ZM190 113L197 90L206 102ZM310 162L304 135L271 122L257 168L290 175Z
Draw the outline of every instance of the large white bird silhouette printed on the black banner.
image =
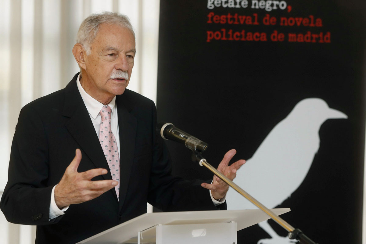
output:
M329 108L320 98L300 101L238 170L234 182L268 208L281 204L305 179L319 149L320 126L328 119L347 119L347 115ZM232 188L227 199L229 210L257 208ZM258 244L293 243L279 236L267 221L259 226L272 238L261 239Z

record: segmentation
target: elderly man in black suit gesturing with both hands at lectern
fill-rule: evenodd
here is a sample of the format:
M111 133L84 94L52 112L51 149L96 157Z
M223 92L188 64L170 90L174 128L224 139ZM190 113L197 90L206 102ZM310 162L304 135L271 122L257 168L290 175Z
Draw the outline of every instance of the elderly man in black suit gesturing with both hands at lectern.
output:
M224 208L228 186L216 177L171 176L154 103L126 89L136 53L128 18L89 16L72 53L81 72L20 112L1 199L8 221L37 225L36 243L65 244L145 213L146 202L164 211ZM219 165L231 179L244 164L228 166L234 154Z

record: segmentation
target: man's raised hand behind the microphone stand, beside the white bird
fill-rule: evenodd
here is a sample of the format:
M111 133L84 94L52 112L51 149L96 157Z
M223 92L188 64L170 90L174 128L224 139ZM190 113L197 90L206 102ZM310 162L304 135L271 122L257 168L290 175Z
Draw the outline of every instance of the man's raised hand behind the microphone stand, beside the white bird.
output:
M220 162L219 167L217 167L217 170L223 173L224 176L228 177L230 180L235 179L236 170L240 169L240 167L245 164L245 160L240 159L229 166L229 162L235 154L235 149L231 149L230 151L225 153L223 160ZM223 198L229 189L229 185L217 176L213 176L212 184L202 183L201 186L203 188L209 189L215 200Z

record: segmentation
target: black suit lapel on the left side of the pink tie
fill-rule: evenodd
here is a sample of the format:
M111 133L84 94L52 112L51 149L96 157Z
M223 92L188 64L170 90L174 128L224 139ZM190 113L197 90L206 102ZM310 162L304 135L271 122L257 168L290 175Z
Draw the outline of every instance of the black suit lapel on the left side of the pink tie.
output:
M80 145L81 149L93 162L96 168L109 169L108 163L105 160L103 150L99 143L99 138L95 133L93 123L90 120L89 113L86 110L85 104L81 98L78 87L76 85L77 75L65 88L65 103L63 115L70 118L65 124L67 130L72 137ZM111 174L103 174L105 180L112 180ZM113 191L116 199L116 192Z

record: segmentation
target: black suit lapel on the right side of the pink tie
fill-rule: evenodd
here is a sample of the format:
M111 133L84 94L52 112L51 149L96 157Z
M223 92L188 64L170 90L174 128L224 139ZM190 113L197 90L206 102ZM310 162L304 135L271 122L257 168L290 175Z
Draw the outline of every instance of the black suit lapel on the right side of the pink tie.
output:
M116 104L120 140L119 207L122 208L134 159L137 120L130 114L129 103L124 99L123 94L116 97Z

